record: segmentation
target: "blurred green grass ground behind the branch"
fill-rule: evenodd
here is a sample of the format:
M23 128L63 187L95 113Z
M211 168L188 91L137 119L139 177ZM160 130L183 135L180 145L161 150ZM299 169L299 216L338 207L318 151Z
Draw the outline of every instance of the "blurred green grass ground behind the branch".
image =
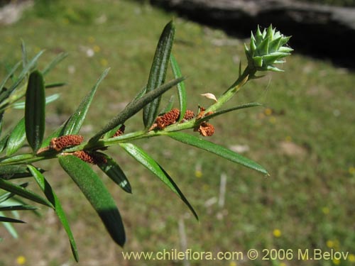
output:
M70 116L99 74L111 67L83 128L83 135L89 137L144 86L160 32L174 14L132 1L58 3L59 11L53 9L50 16L28 11L18 23L2 26L0 73L4 77L6 66L21 60L21 39L26 42L28 55L46 50L40 68L58 52L69 52L69 57L47 79L68 82L67 87L52 90L62 96L48 106L50 133ZM210 104L200 94L212 92L218 96L234 82L239 60L245 60L244 40L180 18L175 20L173 52L182 74L188 77L188 107L196 110L198 104ZM265 166L271 177L168 138L136 143L172 175L195 206L200 223L158 179L137 167L118 147L110 148L133 187L133 195L128 195L103 177L124 219L128 235L124 250L180 250L178 223L184 221L187 248L195 251L334 248L355 254L355 74L297 53L283 68L285 73L268 74L251 82L229 103L259 101L265 107L216 118L212 121L216 133L209 138L226 147L246 145L249 150L243 154ZM21 112L6 113L7 125L18 116ZM141 128L141 117L132 118L126 126L127 132ZM49 170L48 179L67 211L77 239L80 265L157 265L154 261L125 262L121 249L111 243L75 184L56 163L43 162L40 166ZM225 204L219 207L222 173L226 174L227 186ZM33 182L31 187L35 187ZM16 264L20 255L26 257L26 265L73 263L65 232L52 212L43 210L40 219L22 215L28 224L16 226L21 234L19 240L11 239L4 231L0 249L7 255L1 255L0 265ZM280 235L275 236L275 230ZM233 263L214 261L213 265ZM271 265L262 260L236 264ZM300 264L303 262L285 260L272 265ZM351 260L307 262L354 264Z

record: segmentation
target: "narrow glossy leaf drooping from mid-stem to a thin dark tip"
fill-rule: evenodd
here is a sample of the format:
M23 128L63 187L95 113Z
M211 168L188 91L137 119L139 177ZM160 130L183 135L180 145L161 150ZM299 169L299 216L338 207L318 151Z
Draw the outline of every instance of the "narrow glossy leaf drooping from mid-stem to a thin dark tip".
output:
M192 214L194 214L195 218L198 220L198 216L196 211L193 209L189 201L185 198L184 194L182 194L181 190L179 189L178 185L175 184L173 179L168 175L165 170L163 170L160 165L158 165L153 158L151 158L146 152L144 152L141 148L138 148L136 145L132 143L120 143L122 148L126 150L129 155L131 155L134 159L140 162L144 167L148 170L153 172L161 181L163 181L175 194L177 194L182 201L185 202L187 207L190 209Z

